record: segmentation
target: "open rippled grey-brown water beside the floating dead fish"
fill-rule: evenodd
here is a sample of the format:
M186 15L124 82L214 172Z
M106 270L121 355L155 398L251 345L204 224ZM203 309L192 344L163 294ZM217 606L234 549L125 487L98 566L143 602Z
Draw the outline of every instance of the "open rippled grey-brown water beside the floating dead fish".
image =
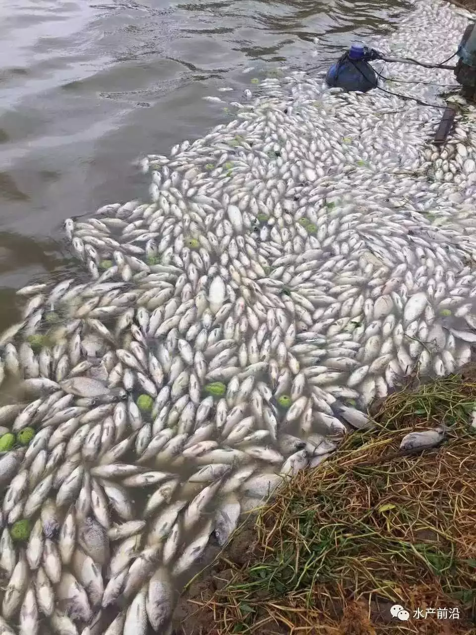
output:
M250 78L283 63L327 67L355 37L392 28L405 8L392 0L1 3L0 326L15 319L15 289L76 267L62 243L65 218L147 197L149 176L135 160L167 154L225 119L202 97L230 86L239 99Z

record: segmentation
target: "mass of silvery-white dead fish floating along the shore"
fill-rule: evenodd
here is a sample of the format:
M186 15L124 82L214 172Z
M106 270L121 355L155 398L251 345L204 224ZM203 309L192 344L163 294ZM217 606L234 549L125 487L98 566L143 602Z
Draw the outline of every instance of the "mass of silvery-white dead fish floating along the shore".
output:
M374 45L442 61L467 22L418 3ZM418 83L388 91L429 104L428 84L453 84L392 73ZM65 223L88 281L18 291L0 336L1 635L166 632L211 535L367 427L402 377L471 358L474 109L437 149L431 105L303 73L254 84L230 123L143 160L151 202Z

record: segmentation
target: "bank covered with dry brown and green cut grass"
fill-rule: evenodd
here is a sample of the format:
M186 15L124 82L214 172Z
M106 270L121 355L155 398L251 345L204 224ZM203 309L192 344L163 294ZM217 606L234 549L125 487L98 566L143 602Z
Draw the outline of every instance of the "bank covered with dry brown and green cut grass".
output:
M298 474L192 582L176 635L476 634L475 407L472 367L376 406L376 429ZM439 448L399 453L442 422Z

